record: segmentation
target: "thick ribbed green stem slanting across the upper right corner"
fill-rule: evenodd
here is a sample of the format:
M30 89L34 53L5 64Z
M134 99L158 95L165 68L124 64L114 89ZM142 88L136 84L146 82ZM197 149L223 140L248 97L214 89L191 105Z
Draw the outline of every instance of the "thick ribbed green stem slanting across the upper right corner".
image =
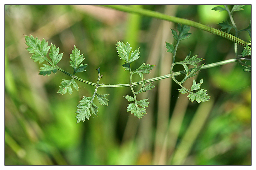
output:
M192 26L194 28L198 28L213 34L216 34L220 37L223 37L225 39L228 39L232 42L235 42L241 46L246 46L248 43L245 42L242 39L239 39L233 35L230 35L226 32L217 30L215 28L197 23L195 21L190 21L188 19L183 19L183 18L178 18L178 17L173 17L173 16L169 16L163 13L159 13L156 11L150 11L150 10L145 10L145 9L140 9L140 8L131 8L128 6L124 6L124 5L101 5L101 6L105 6L108 8L112 8L112 9L116 9L119 11L124 11L124 12L130 12L130 13L136 13L136 14L140 14L140 15L144 15L144 16L148 16L148 17L153 17L153 18L158 18L158 19L163 19L163 20L167 20L167 21L171 21L174 23L180 23L180 24L184 24L184 25L188 25L188 26Z

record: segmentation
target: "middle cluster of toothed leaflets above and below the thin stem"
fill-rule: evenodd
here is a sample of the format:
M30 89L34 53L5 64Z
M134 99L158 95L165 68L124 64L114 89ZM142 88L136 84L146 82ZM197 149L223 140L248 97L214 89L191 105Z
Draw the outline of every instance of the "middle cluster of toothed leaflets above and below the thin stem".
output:
M134 102L134 103L128 104L127 112L130 111L132 114L134 114L135 117L138 117L140 119L141 117L144 116L143 114L146 114L145 107L148 107L149 102L147 102L148 99L137 101L136 94L139 94L141 92L146 92L147 90L151 90L155 87L154 85L152 85L152 83L148 84L145 87L146 83L145 83L145 79L143 79L143 73L145 74L150 73L149 71L152 70L155 67L155 65L150 65L150 64L145 65L145 63L143 63L140 65L139 68L132 71L130 64L140 57L139 56L140 48L136 49L134 52L131 53L132 47L130 47L130 44L128 42L126 44L124 44L123 42L117 42L116 49L120 59L125 61L124 64L122 65L124 67L124 70L130 71L130 87L133 93L133 97L126 95L124 96L124 98L126 98L128 102ZM131 53L131 56L129 57L130 53ZM143 80L142 87L137 92L135 92L132 87L133 74L138 74L140 78Z

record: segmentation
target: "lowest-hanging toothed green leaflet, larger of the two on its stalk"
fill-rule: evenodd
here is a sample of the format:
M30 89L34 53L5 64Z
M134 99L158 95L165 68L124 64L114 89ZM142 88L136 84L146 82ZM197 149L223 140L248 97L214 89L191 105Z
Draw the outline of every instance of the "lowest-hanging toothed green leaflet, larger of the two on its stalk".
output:
M80 100L79 104L76 106L78 109L76 110L76 123L79 123L81 121L85 121L85 118L89 120L91 116L90 109L92 110L92 113L97 116L98 113L98 106L96 106L93 103L93 97L86 97L84 96L83 99Z

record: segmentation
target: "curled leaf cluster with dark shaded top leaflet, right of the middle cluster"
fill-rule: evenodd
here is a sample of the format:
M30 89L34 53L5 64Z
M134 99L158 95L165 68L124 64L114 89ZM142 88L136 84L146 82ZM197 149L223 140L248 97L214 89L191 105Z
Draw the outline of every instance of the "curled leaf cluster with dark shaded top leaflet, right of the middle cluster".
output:
M168 42L165 42L166 44L166 48L168 49L167 52L169 53L173 53L173 58L175 59L176 56L176 50L178 48L178 44L180 42L180 40L183 39L187 39L190 37L191 33L188 33L188 31L190 30L190 27L187 25L180 25L178 24L178 32L179 34L175 31L172 30L172 34L173 34L173 38L177 41L176 46L174 47L173 44L170 44ZM191 89L186 89L185 87L183 87L181 84L183 82L185 82L186 80L188 80L188 78L193 77L196 75L196 72L203 66L197 66L197 63L201 62L202 58L197 58L197 55L190 57L191 56L191 51L188 53L188 55L185 57L185 59L183 61L178 61L178 62L173 62L172 63L172 67L171 67L171 74L172 74L172 69L173 66L179 64L182 65L184 67L185 70L185 78L182 81L177 81L175 79L174 76L172 76L172 79L180 85L181 89L177 89L181 94L186 94L186 93L190 93L188 95L189 100L191 102L195 101L200 103L200 102L205 102L205 101L209 101L210 100L210 96L208 96L206 90L204 89L200 89L201 84L203 83L203 79L200 80L199 83L196 83L195 79L193 80L193 84L191 86ZM194 66L194 68L192 70L189 71L188 69L188 65L192 65ZM200 89L200 90L199 90ZM197 92L193 92L194 90L199 90Z

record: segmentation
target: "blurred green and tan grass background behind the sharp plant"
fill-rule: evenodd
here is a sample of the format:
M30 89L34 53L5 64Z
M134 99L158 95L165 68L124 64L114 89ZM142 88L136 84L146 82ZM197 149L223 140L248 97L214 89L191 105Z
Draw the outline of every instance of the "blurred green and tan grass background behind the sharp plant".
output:
M220 29L217 24L228 15L211 10L215 6L131 5ZM246 28L251 5L233 17L239 30ZM116 41L129 42L132 51L140 47L141 57L131 67L154 64L145 75L153 78L170 73L172 54L166 53L165 41L174 42L170 29L176 27L100 6L5 5L5 165L251 165L251 73L240 64L198 73L195 79L204 78L202 88L211 96L205 103L191 103L171 79L154 82L154 89L138 95L150 102L140 120L126 112L123 96L132 95L129 87L100 88L99 94L110 94L108 106L95 101L98 117L76 124L76 105L83 96L92 96L95 87L77 81L79 91L57 94L68 76L59 71L38 75L42 64L29 58L24 39L32 34L60 47L64 54L58 66L68 72L73 69L69 53L75 45L89 64L77 76L96 82L100 67L101 84L122 84L129 82L129 73L121 66ZM191 38L180 42L176 61L184 60L190 50L207 64L235 58L234 43L195 28L190 32ZM251 40L247 32L239 38ZM238 53L242 49L238 46ZM183 85L189 88L192 81Z

